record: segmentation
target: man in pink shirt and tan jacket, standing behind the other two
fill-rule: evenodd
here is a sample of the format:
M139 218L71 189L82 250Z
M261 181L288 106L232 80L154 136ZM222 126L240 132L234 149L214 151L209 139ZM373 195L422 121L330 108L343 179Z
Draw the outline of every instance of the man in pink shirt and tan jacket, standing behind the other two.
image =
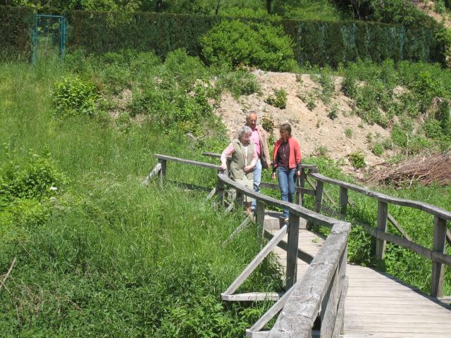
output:
M268 136L266 131L257 125L259 115L256 111L248 111L246 114L246 125L252 130L250 140L255 144L258 160L254 168L254 192L260 191L261 170L271 168L271 158L268 150ZM255 211L257 201L252 201L251 209Z

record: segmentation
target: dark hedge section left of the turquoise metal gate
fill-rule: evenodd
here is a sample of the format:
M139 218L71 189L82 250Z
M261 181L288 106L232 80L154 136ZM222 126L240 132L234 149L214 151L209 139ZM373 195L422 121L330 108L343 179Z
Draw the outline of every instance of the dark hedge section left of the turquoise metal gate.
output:
M30 56L32 15L31 8L0 6L0 53L2 56L23 58Z

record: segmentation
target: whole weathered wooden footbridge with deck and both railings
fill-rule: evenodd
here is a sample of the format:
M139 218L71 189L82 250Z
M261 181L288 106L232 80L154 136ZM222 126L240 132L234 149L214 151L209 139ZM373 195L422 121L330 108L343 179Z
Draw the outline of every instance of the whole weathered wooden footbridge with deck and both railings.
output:
M217 154L207 156L218 157ZM207 198L215 194L224 207L226 187L236 189L240 194L257 199L255 222L259 237L267 242L247 268L236 277L222 294L224 301L275 301L273 306L243 332L248 337L451 337L451 310L445 303L450 297L443 295L445 265L451 265L451 256L445 252L446 244L451 244L451 234L447 222L450 211L418 201L399 199L364 187L330 179L319 174L314 165L303 165L300 184L296 190L296 204L290 204L270 196L252 191L236 184L225 175L218 165L190 161L156 154L159 163L144 180L148 183L153 176L161 181L166 175L168 161L196 165L218 170L218 182ZM311 188L305 187L306 182ZM333 199L324 189L325 184L340 187L337 207L339 213L324 208L323 196L332 203ZM262 187L278 189L278 185L262 183ZM376 199L378 220L376 227L362 225L364 230L376 238L376 258L385 255L385 243L391 242L410 249L431 261L431 292L426 295L390 275L371 268L363 268L347 263L347 239L351 225L342 220L350 204L348 190ZM314 211L302 206L304 194L314 196ZM404 229L388 213L388 204L416 208L433 215L431 224L433 245L427 248L410 239ZM289 225L280 225L279 215L266 210L266 206L288 208ZM226 210L233 208L230 204ZM319 213L328 211L335 218ZM249 216L230 234L226 242L249 224ZM390 234L390 221L399 232ZM330 227L327 238L319 237L307 229L317 226ZM263 245L263 244L262 244ZM246 278L271 252L276 253L285 267L285 292L251 292L237 294L236 291ZM271 329L267 325L272 318L276 322Z

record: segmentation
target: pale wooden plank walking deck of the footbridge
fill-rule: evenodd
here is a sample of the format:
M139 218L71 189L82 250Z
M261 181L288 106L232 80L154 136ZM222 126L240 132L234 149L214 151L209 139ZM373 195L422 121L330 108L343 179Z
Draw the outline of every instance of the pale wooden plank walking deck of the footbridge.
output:
M279 215L267 213L266 230L279 229ZM315 256L324 239L306 230L305 220L300 221L299 248ZM285 265L286 252L278 247L274 252ZM307 268L307 263L297 260L297 280ZM433 297L371 268L347 264L347 275L345 334L341 337L451 337L451 311Z

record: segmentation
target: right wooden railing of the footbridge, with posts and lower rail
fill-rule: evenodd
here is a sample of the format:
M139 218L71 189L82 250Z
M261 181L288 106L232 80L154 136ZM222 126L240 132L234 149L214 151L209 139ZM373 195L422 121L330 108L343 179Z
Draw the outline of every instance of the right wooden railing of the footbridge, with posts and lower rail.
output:
M385 255L385 244L390 242L397 244L406 249L410 249L421 256L424 256L432 261L432 273L431 273L431 296L443 297L443 278L444 278L444 264L451 266L451 256L445 254L445 243L451 244L451 234L447 230L446 223L451 220L451 212L445 211L438 206L432 206L431 204L422 203L419 201L411 201L408 199L400 199L397 197L388 196L379 192L373 192L365 187L359 187L356 184L343 182L340 180L333 180L329 177L321 175L319 173L309 173L309 176L316 180L315 194L315 211L321 211L321 205L323 200L324 184L333 184L340 187L339 193L339 208L340 214L345 215L347 211L347 205L350 204L348 199L348 190L352 190L359 194L371 197L378 201L378 221L377 227L371 227L369 225L362 225L364 230L376 237L376 258L383 259ZM388 213L388 204L395 204L397 206L407 206L409 208L415 208L426 213L433 215L433 249L428 249L425 246L415 243L410 239L407 232L397 224L392 215ZM389 234L387 232L387 221L397 228L397 230L405 237L402 238L395 234Z

